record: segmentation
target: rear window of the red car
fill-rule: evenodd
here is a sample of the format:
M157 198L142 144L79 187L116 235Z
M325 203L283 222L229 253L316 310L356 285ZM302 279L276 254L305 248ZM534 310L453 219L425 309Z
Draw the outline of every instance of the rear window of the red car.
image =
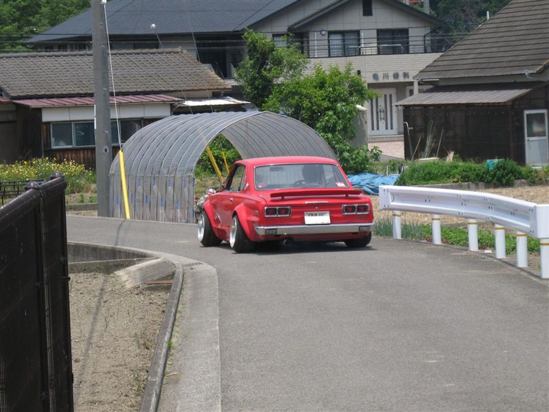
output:
M327 163L291 163L256 166L257 190L293 189L295 187L349 187L340 168Z

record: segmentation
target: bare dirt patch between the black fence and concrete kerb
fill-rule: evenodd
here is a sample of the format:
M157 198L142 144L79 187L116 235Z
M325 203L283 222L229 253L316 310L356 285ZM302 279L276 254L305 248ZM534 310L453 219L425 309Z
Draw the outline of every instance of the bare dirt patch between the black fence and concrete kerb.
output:
M71 274L75 411L136 411L169 288L127 289L115 274Z

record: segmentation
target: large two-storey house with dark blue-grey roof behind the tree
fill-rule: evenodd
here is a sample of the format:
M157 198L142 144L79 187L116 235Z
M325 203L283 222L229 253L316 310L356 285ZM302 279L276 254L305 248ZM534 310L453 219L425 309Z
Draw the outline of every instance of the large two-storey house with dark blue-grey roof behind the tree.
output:
M245 57L246 27L281 47L292 34L324 67L351 62L380 95L369 104L373 136L402 135L395 102L417 92L413 76L448 47L439 31L445 23L408 0L115 0L106 8L113 49L182 47L228 80ZM30 39L51 51L87 49L90 42L90 11Z

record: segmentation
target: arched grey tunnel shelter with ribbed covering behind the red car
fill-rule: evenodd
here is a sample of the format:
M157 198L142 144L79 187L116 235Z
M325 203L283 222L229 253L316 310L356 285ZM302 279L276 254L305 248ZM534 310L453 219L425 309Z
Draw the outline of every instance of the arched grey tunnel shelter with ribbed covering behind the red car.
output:
M315 130L269 112L174 115L141 128L123 146L130 216L194 222L194 169L206 146L222 133L242 159L320 156L336 159ZM119 156L110 165L110 216L124 218Z

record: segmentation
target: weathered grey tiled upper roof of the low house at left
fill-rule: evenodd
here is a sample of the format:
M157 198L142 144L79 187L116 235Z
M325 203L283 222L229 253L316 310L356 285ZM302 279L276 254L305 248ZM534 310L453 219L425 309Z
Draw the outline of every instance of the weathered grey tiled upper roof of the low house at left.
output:
M230 89L179 49L117 51L112 56L119 95ZM93 95L93 56L91 52L0 54L0 89L12 99Z

